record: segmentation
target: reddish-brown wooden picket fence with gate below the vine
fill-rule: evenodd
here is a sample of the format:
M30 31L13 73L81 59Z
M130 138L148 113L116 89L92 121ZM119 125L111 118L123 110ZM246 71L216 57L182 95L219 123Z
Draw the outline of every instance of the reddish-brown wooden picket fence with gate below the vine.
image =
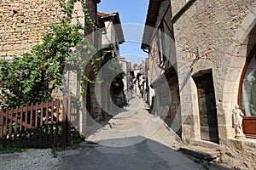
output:
M73 99L0 110L0 144L21 147L67 146L71 144Z

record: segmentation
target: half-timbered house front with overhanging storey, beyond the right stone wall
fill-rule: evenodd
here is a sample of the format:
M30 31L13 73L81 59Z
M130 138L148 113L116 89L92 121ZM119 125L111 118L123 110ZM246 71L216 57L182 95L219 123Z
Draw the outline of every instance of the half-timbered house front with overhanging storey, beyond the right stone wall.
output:
M154 95L154 111L172 130L181 136L180 101L178 90L175 42L172 32L171 2L166 0L160 4L154 32L149 46L149 97ZM158 31L156 31L158 30ZM148 35L149 36L149 35ZM173 66L172 69L171 66Z

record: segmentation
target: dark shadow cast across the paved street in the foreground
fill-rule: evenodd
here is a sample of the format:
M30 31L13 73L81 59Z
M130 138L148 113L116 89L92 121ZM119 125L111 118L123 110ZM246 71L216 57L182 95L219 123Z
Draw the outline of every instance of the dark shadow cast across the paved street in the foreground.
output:
M84 147L79 151L65 150L58 153L61 158L60 169L111 169L111 170L203 170L224 169L218 165L201 165L193 161L189 156L183 155L177 150L172 150L166 145L141 136L133 138L116 139L116 142L142 140L138 144L126 147L108 147L99 145L96 147ZM104 141L110 142L110 141ZM113 141L111 141L113 142Z

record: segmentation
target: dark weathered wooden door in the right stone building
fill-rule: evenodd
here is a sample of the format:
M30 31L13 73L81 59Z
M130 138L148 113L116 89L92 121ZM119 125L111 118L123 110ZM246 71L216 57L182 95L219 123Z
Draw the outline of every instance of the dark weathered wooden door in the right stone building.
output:
M201 139L218 143L218 120L212 73L195 78L198 93Z

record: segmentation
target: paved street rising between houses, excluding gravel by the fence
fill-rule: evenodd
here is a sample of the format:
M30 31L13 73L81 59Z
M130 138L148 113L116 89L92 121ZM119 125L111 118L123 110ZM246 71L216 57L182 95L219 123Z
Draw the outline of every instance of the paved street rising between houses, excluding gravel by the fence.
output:
M60 152L60 169L205 169L175 150L177 136L141 99L130 104L88 138L99 145Z

